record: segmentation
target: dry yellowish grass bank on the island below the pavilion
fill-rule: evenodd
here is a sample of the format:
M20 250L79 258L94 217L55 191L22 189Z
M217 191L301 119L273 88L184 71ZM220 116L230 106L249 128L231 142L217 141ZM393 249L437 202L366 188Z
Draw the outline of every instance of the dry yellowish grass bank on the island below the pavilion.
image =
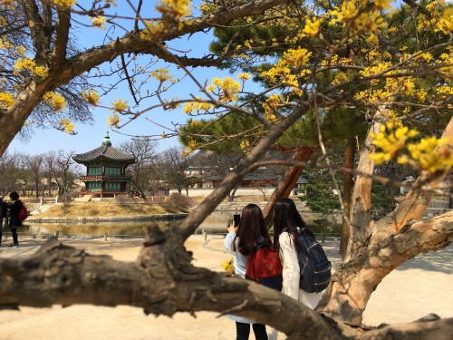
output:
M64 206L57 205L51 209L36 215L40 218L71 218L71 217L93 217L93 216L135 216L135 215L159 215L168 213L166 209L159 205L148 204L127 204L116 203L74 203ZM174 213L175 211L171 211Z

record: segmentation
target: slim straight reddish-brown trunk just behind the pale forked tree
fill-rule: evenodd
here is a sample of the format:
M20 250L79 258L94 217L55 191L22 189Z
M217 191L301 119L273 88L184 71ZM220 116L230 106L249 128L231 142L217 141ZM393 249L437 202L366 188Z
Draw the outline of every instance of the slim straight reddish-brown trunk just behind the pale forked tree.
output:
M346 169L354 169L355 160L355 138L346 139L346 147L343 154L343 166ZM353 173L344 172L342 181L342 238L340 241L340 254L342 259L346 257L349 240L349 225L351 219L351 198L352 198Z

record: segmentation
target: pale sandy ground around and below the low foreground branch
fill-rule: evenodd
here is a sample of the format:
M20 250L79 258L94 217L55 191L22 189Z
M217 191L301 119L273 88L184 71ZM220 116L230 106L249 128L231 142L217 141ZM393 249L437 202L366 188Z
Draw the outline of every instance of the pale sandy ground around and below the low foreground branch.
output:
M19 248L0 248L1 258L33 256L41 239L21 239ZM109 255L120 261L133 261L139 254L141 239L61 239L64 244L85 248L91 254ZM223 238L188 238L186 248L193 251L194 265L222 270L220 264L230 255L223 249ZM324 248L333 263L338 261L338 243L327 241ZM364 313L366 325L410 322L435 313L453 316L453 247L424 254L410 260L385 277L371 296ZM269 339L282 340L283 334L267 327ZM196 317L179 313L145 316L131 306L53 306L23 307L21 311L0 311L0 340L231 340L236 337L232 320L215 313L200 312ZM254 338L253 335L250 338Z

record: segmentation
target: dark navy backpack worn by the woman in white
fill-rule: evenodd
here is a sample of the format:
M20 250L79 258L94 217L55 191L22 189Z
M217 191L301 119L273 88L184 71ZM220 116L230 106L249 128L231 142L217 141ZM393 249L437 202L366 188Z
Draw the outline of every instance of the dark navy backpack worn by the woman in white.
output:
M299 233L300 251L297 253L301 279L299 287L307 293L322 292L331 281L331 261L323 247L310 236L305 228Z

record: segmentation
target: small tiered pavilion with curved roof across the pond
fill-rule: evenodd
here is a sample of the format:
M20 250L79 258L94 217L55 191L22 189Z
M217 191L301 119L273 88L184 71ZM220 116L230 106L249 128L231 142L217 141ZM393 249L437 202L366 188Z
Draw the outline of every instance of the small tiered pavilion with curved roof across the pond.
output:
M74 155L72 160L86 166L86 176L80 178L85 183L82 196L90 194L111 198L126 193L127 184L131 179L126 175L126 169L135 163L135 158L129 153L113 148L109 132L99 148Z

